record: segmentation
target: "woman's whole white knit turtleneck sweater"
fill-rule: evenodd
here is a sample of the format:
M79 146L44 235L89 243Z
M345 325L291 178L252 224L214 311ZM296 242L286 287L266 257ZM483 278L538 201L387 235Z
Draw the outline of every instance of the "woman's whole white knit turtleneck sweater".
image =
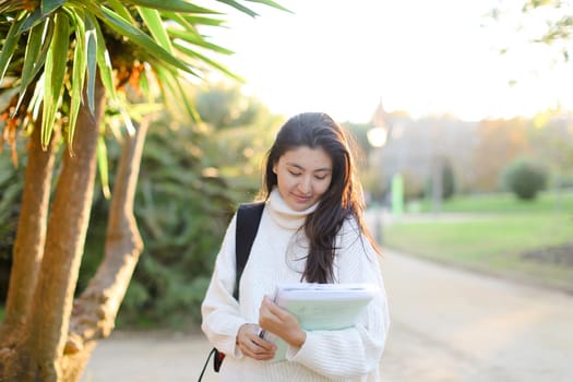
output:
M201 309L203 332L227 355L219 371L220 381L380 381L380 360L390 325L386 296L378 255L359 236L354 220L346 222L338 235L335 282L374 283L381 289L357 325L308 332L305 344L289 348L287 360L282 362L243 357L236 346L239 327L259 321L264 295L272 295L277 283L300 282L308 246L297 229L314 208L293 211L277 190L271 193L241 277L240 305L232 298L236 216L231 219Z

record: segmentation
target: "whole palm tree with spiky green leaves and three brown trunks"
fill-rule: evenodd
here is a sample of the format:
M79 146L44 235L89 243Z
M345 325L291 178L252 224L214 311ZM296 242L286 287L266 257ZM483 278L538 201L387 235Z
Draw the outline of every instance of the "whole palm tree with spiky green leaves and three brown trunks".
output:
M213 7L217 2L255 15L239 1ZM151 100L157 84L164 99L178 94L194 115L182 91L186 75L201 77L205 65L234 75L203 53L230 53L199 32L222 26L222 17L184 0L0 0L0 99L9 99L0 106L2 136L13 146L19 129L31 132L0 326L0 380L76 381L96 342L114 330L143 249L132 208L148 119L132 122L129 106L133 94ZM104 261L74 301L96 163L105 168L106 110L126 117L127 129L118 133L123 150ZM67 151L50 196L62 142Z

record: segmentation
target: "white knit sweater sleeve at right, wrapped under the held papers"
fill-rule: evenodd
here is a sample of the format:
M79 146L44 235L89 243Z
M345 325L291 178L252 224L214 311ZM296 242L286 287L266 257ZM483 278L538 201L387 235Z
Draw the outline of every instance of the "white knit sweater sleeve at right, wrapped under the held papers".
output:
M380 294L368 305L354 327L307 332L300 348L289 348L287 359L331 378L357 378L377 369L390 326L386 294L378 254L351 224L345 225L335 266L338 283L373 283Z

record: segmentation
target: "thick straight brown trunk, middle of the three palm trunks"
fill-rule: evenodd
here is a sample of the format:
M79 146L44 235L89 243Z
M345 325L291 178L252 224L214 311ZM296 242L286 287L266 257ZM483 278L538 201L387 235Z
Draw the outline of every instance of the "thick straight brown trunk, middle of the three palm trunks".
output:
M60 363L89 220L96 145L105 107L105 87L99 75L94 98L94 116L87 103L80 108L75 155L63 156L24 341L16 349L15 362L7 366L8 381L61 381Z

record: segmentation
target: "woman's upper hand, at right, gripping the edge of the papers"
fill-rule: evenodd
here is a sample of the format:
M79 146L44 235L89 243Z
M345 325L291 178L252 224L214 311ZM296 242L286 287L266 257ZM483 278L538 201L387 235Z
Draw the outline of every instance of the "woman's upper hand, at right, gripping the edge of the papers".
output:
M274 303L268 296L261 302L259 325L294 347L300 347L307 341L307 332L300 329L297 318Z

